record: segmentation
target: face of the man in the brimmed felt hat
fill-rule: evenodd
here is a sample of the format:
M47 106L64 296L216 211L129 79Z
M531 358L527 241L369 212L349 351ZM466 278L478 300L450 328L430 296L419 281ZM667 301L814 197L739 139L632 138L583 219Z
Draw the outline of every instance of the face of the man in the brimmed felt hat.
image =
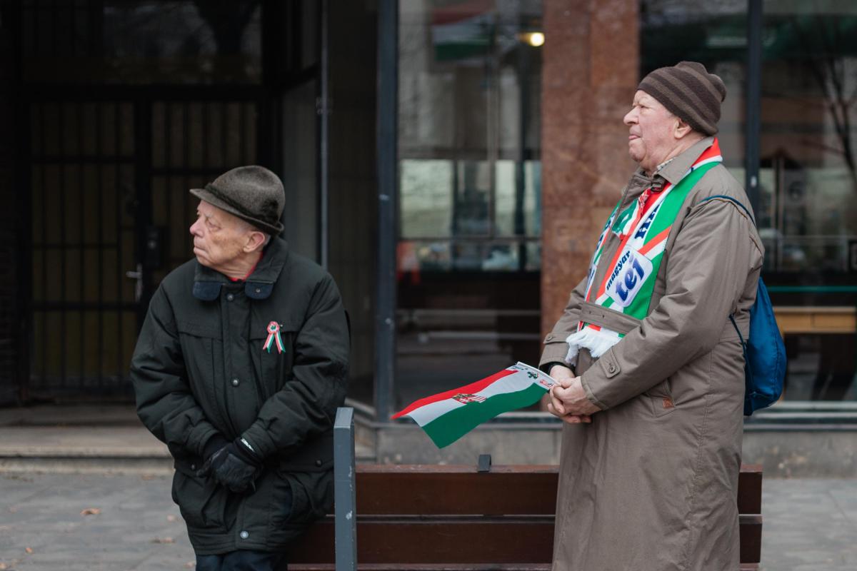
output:
M194 255L201 265L213 270L224 268L243 253L249 231L241 218L200 200L196 221L190 226Z

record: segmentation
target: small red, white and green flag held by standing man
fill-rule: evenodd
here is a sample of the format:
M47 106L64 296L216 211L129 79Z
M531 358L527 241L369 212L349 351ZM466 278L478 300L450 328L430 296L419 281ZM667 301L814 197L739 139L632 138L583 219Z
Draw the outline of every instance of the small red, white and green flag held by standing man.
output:
M476 383L413 402L393 419L410 416L443 448L500 413L536 403L555 383L519 362Z

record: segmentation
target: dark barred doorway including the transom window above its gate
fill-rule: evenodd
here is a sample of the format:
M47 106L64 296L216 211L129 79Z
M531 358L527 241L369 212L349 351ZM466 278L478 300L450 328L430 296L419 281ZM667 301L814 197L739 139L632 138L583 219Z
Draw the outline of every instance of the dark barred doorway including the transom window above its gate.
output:
M191 256L188 189L276 169L262 45L286 34L263 11L294 19L264 0L4 3L26 141L16 400L129 399L148 300Z

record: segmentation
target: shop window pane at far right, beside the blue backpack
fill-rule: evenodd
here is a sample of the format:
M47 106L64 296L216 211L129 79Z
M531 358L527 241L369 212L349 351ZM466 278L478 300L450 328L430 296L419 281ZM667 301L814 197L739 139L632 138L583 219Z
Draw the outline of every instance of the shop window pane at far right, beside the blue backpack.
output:
M764 2L760 234L787 400L854 400L857 4ZM795 326L802 318L805 326Z

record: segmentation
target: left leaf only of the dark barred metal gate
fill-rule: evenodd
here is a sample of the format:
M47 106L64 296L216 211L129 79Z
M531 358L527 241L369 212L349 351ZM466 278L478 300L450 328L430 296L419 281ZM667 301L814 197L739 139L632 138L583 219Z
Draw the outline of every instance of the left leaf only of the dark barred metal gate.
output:
M123 392L133 348L134 107L30 107L33 338L30 396Z

